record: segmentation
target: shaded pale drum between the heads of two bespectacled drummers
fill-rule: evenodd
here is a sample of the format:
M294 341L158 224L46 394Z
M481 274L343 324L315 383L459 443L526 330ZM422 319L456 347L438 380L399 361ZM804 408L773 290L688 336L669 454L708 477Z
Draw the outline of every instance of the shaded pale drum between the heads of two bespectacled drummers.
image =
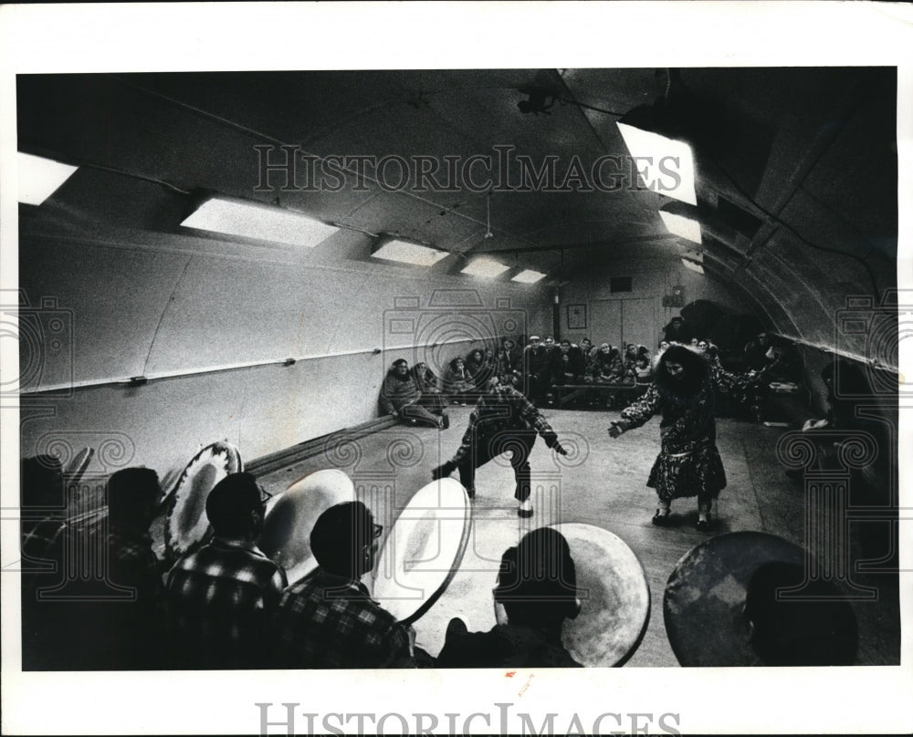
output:
M289 585L317 567L310 552L310 531L331 506L355 501L355 484L339 469L315 471L292 483L268 505L257 546L285 568Z

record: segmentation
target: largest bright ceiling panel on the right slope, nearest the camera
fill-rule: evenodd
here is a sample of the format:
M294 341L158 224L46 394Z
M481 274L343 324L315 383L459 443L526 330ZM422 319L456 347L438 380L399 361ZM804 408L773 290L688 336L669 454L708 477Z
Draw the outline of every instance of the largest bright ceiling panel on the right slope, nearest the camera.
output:
M643 186L681 202L698 204L694 192L694 154L691 147L674 140L618 122Z

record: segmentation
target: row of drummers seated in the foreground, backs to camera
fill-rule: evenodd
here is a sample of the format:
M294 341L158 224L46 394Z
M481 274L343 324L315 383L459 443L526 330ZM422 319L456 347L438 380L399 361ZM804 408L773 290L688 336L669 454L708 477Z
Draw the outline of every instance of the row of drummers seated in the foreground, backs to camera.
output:
M34 460L24 463L28 483L35 481L28 467ZM215 485L205 501L213 538L164 573L148 533L161 501L155 472L116 472L108 494L110 524L96 531L109 565L107 583L133 596L43 610L48 603L36 596L35 576L24 576L26 670L35 670L37 660L41 670L32 650L42 649L54 650L47 665L58 670L581 665L561 641L564 621L577 617L581 598L570 546L554 529L533 530L504 551L493 589L496 626L469 632L451 618L433 658L415 647L415 630L362 583L383 533L363 503L336 504L320 514L310 532L318 567L289 586L282 567L256 544L268 494L253 475L230 474ZM61 560L59 548L40 547L35 536L24 535L23 546L33 561ZM802 579L801 566L795 567L759 569L752 578L745 604L752 646L767 665L852 663L855 621L834 634L820 626L820 607L778 607L777 589ZM36 633L45 638L36 641Z

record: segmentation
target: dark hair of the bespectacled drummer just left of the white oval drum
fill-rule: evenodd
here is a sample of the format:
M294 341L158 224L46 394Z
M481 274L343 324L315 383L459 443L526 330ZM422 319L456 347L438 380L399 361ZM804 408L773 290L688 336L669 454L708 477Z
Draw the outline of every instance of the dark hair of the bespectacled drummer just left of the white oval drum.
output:
M361 576L362 549L373 543L373 524L362 502L335 504L320 514L310 531L310 550L320 567L337 576Z

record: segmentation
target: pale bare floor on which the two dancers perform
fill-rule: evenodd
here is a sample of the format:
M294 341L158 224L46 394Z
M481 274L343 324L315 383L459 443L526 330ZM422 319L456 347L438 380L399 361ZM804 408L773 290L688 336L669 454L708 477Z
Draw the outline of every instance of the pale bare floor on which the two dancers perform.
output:
M447 431L397 426L355 441L337 441L318 456L269 473L261 483L269 492L278 493L309 472L340 468L352 477L360 498L389 531L410 497L430 482L431 469L452 457L468 414L467 407L451 408ZM776 460L774 449L783 432L780 428L743 420L718 420L718 447L729 484L720 493L712 530L701 533L694 527L694 499L673 504L670 526L651 524L656 494L645 486L645 480L659 448L658 420L613 440L606 428L617 419L616 411L546 410L545 415L571 453L560 466L556 465L552 453L537 441L530 457L534 485L537 476L547 481L558 477L560 493L557 498L534 500L536 514L529 521L518 523L509 463L503 459L489 462L477 472L476 533L483 535L486 524L501 519L501 524L516 528L515 535L543 524L585 523L603 527L624 540L645 569L652 601L645 637L627 662L628 668L677 667L666 638L663 593L677 561L694 545L712 535L740 530L767 532L797 545L804 543L804 483L788 479ZM859 526L851 524L851 533ZM881 544L879 535L875 530L875 535L866 536L866 558L880 557L887 551L887 535L881 541L885 550L871 549L873 536L875 547ZM857 536L852 537L851 543L854 560L863 556ZM878 572L853 576L859 584L878 588L875 601L853 604L860 628L859 664L899 663L897 576ZM494 586L494 574L490 577L488 590ZM453 605L448 605L443 597L435 605L440 610L434 611L433 607L436 622L447 621L451 612L444 609L448 606ZM479 606L490 608L490 601Z

